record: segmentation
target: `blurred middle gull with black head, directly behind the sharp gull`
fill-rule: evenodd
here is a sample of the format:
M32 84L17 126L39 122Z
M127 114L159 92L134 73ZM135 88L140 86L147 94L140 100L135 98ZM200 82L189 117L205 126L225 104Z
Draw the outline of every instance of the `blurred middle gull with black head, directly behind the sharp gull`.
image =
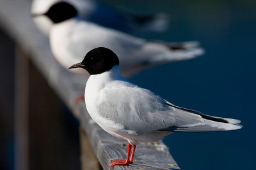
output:
M81 61L86 52L98 46L110 48L120 56L120 68L124 76L131 76L141 69L166 62L193 59L204 53L196 41L146 41L81 20L76 8L66 2L54 3L44 13L33 13L33 17L42 15L54 23L49 32L51 50L64 67ZM81 69L76 72L84 73Z

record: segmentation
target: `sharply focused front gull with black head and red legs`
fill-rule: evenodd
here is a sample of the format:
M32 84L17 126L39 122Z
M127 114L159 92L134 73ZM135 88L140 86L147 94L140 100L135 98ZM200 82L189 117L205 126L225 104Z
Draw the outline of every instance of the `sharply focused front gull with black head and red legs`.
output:
M77 67L91 74L84 97L92 119L109 134L129 143L127 159L113 160L110 167L132 164L136 145L158 141L172 132L228 131L242 127L240 120L180 108L132 84L122 77L118 57L108 48L91 50L70 69Z

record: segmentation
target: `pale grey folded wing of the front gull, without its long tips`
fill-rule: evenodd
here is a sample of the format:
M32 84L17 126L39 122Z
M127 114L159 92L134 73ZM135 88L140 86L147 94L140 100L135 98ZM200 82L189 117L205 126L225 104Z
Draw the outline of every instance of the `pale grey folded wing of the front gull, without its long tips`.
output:
M204 122L200 115L170 106L163 98L129 82L114 81L100 93L101 116L137 134L172 126L192 127Z

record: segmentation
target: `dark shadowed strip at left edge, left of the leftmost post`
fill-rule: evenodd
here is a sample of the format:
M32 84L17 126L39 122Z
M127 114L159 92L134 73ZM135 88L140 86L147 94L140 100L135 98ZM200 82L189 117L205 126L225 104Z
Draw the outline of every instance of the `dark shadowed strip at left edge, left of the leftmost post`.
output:
M14 42L0 29L0 169L13 169Z

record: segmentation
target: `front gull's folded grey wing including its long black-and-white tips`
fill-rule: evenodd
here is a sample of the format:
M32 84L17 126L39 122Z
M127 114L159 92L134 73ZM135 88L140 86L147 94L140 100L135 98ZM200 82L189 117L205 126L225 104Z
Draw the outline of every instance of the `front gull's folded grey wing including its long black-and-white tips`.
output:
M137 134L152 131L204 132L240 129L239 120L204 115L180 108L147 89L125 81L114 81L101 92L102 117Z

